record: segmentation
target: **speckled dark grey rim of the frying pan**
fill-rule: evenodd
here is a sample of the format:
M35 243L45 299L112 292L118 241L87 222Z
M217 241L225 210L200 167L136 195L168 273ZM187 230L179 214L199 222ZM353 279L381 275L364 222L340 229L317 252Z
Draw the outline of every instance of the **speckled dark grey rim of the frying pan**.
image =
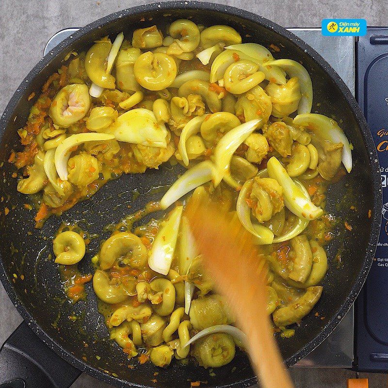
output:
M345 316L345 314L349 311L354 301L356 300L356 296L361 290L366 276L371 268L372 259L374 256L376 244L379 237L380 231L380 223L381 223L381 209L382 209L382 193L381 193L381 183L380 183L380 171L379 171L379 163L377 158L377 152L374 146L374 142L372 139L372 134L368 128L365 117L363 116L356 99L353 97L349 88L345 85L345 83L341 80L339 75L334 71L334 69L319 55L314 49L308 46L304 41L294 35L292 32L284 29L278 24L262 17L255 15L251 12L241 10L239 8L223 5L223 4L215 4L206 1L184 1L184 0L175 0L175 1L164 1L159 3L149 3L144 5L135 6L132 8L128 8L122 11L118 11L112 13L110 15L104 16L92 23L86 25L81 28L79 31L74 32L70 37L66 38L63 42L61 42L58 46L52 49L45 57L43 57L37 65L35 65L29 74L25 77L25 79L21 82L19 87L17 88L15 94L10 99L7 104L4 113L0 118L0 139L3 136L5 128L11 119L14 108L20 99L24 96L27 87L30 84L30 81L34 80L34 78L47 66L49 65L52 58L57 55L63 53L65 49L71 45L75 40L83 37L85 34L94 31L98 28L104 27L107 24L113 22L116 19L125 17L127 15L141 15L146 11L168 11L172 9L194 9L200 11L216 11L220 13L224 13L231 16L236 16L241 19L246 19L251 22L257 23L267 29L271 29L276 33L286 37L291 40L291 42L302 49L304 52L309 55L312 60L320 66L326 74L330 77L331 81L335 83L335 85L341 91L343 97L346 99L349 108L351 109L356 121L360 124L361 133L363 136L363 141L366 149L368 150L370 157L370 165L372 170L372 181L373 181L373 209L372 209L372 228L371 235L369 239L369 244L367 247L367 254L362 264L362 270L357 275L356 280L353 284L352 290L349 295L345 299L342 306L339 308L334 317L326 324L323 330L310 342L308 342L303 348L299 349L293 356L284 360L287 366L291 366L300 359L304 358L309 354L312 350L314 350L319 344L323 342L324 339L334 330L334 328L338 325L341 319ZM79 369L81 372L86 372L94 377L99 378L109 384L113 384L118 387L125 386L134 386L134 387L148 387L146 385L134 384L130 383L126 380L122 380L118 377L114 377L106 372L98 371L93 368L89 364L84 361L81 361L76 356L71 353L65 351L62 346L54 339L52 339L34 320L32 315L27 311L27 309L23 306L21 301L19 300L16 290L14 289L10 279L8 278L5 268L3 266L1 257L0 257L0 280L10 297L11 301L15 305L17 311L22 316L22 318L28 323L29 327L35 332L35 334L46 344L54 350L59 356L61 356L65 361L72 364L74 367ZM224 387L247 387L253 384L256 384L257 379L255 377L245 379L243 381L239 381L236 383L226 384Z

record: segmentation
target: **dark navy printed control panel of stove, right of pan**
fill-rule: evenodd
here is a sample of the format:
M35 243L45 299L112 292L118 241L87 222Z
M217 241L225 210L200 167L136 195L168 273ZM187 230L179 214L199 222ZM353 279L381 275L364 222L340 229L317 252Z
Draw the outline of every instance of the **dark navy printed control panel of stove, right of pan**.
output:
M388 372L388 28L368 28L356 43L356 97L377 147L384 205L371 272L355 305L354 364Z

